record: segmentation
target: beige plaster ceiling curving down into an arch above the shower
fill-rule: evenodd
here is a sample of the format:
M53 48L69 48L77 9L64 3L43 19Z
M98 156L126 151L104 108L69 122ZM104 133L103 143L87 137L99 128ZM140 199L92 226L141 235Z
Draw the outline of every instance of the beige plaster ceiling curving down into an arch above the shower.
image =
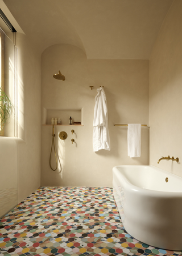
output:
M69 43L88 59L149 59L173 0L3 2L41 53L51 45Z

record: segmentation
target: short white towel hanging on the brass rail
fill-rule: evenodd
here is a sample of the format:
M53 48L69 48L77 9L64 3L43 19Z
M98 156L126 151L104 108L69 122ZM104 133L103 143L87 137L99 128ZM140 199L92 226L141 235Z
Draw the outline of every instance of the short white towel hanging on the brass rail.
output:
M141 154L140 123L129 123L127 129L127 153L129 157L140 157Z

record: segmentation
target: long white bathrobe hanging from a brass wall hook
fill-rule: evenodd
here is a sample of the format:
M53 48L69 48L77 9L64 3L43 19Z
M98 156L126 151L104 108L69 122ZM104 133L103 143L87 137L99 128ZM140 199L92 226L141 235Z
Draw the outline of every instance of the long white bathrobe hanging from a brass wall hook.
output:
M106 94L103 87L97 89L93 119L93 151L110 150Z

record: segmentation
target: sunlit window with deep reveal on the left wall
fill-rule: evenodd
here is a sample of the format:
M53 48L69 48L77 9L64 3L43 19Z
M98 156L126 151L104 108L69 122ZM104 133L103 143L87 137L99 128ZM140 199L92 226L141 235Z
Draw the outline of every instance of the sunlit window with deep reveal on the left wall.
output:
M15 37L15 33L10 32L10 36ZM17 122L17 101L18 91L16 90L16 67L17 67L18 49L9 37L0 28L0 86L6 93L7 97L13 104L11 107L10 118L7 119L5 127L0 123L0 136L17 137L18 122ZM0 91L1 93L1 91ZM3 94L2 94L3 95ZM0 95L0 96L2 96ZM6 102L9 101L6 99ZM2 104L0 98L0 104ZM8 104L6 104L8 106ZM2 105L1 105L2 106ZM4 112L5 113L5 112ZM3 116L3 111L2 111ZM9 115L8 115L9 116ZM1 115L0 115L1 118ZM6 118L5 118L6 119Z

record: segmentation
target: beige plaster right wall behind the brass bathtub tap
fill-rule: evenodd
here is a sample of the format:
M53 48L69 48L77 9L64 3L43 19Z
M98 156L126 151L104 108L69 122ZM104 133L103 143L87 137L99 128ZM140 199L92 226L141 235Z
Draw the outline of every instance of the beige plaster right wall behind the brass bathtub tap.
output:
M150 58L150 164L182 177L182 1L168 12ZM180 162L160 161L162 156Z

